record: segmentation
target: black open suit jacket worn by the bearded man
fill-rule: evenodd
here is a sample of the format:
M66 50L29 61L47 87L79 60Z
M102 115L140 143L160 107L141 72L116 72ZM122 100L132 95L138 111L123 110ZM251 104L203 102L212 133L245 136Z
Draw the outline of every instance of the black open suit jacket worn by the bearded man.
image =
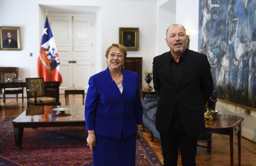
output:
M175 88L170 73L171 52L154 57L153 83L159 96L156 110L156 129L166 133L173 118L177 102L182 124L190 136L204 131L204 107L213 92L207 56L187 49L185 63L180 72L179 87Z

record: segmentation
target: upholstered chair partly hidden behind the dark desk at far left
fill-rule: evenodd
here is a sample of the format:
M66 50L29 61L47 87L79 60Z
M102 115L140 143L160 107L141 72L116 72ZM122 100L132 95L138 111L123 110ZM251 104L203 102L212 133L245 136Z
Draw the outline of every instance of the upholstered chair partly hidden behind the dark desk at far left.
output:
M17 72L7 71L2 72L2 82L14 81L17 77ZM2 89L2 102L5 103L6 94L16 94L16 100L18 101L18 94L22 94L22 103L23 103L23 87L22 88L3 88Z

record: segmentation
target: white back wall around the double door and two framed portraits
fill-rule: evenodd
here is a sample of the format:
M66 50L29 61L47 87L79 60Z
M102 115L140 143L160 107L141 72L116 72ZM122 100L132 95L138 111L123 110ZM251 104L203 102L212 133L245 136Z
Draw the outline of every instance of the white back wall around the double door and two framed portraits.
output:
M15 12L9 12L10 4ZM0 26L18 26L21 29L21 51L0 51L1 67L19 67L19 77L22 79L37 77L37 58L45 23L45 9L52 6L63 8L67 14L85 14L90 7L99 8L94 13L96 72L106 69L104 54L107 47L119 42L119 27L140 28L140 50L128 51L127 56L143 57L142 73L152 70L152 62L147 59L156 55L155 0L0 0ZM142 81L142 86L146 86L145 81Z

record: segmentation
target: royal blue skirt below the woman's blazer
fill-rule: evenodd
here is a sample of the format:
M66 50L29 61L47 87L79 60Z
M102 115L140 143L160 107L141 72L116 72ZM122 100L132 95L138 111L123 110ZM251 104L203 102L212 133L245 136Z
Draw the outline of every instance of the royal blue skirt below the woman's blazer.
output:
M135 166L136 132L127 138L108 138L95 133L93 166Z

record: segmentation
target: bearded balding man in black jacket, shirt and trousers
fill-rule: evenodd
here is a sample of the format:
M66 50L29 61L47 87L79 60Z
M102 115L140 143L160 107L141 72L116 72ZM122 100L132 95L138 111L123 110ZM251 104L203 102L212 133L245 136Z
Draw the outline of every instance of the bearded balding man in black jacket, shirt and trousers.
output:
M178 144L183 166L195 166L197 136L205 129L204 105L213 92L207 56L187 49L185 28L166 31L170 51L154 57L153 83L159 96L156 129L160 133L164 166L177 166Z

